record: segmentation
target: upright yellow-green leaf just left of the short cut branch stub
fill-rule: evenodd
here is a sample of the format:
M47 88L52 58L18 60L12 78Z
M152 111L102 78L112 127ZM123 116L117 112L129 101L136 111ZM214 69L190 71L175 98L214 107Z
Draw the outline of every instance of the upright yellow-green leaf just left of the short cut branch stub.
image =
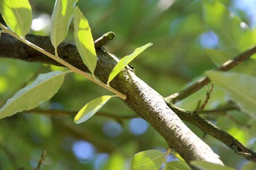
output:
M74 37L77 50L79 51L82 61L94 76L94 70L97 64L97 56L94 48L92 32L90 31L88 20L79 10L79 7L75 8L74 27Z

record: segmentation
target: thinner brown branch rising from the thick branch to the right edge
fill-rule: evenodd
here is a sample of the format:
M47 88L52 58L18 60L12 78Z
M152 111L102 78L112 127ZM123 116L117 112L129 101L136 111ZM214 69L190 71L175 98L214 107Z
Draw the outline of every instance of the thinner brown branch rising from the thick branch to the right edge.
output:
M217 67L214 70L228 71L230 69L233 69L234 67L236 67L237 65L245 61L246 59L249 59L255 53L256 53L256 46L253 46L252 48L239 54L234 59L230 59L229 61L225 62L222 66ZM207 84L209 83L210 83L210 80L207 77L201 78L200 80L193 83L191 86L188 86L184 90L181 90L171 96L166 97L165 100L170 101L172 103L177 103L178 101L183 100L188 96L194 94L195 92L199 91L201 88L203 88L204 86L207 86Z

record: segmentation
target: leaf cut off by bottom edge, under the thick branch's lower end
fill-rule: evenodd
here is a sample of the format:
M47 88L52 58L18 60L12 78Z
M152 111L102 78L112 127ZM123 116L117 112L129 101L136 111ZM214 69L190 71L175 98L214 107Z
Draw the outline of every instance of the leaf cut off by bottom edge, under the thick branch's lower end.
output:
M234 170L233 168L222 166L219 164L214 164L206 161L192 161L192 165L199 168L200 170L218 169L218 170Z

